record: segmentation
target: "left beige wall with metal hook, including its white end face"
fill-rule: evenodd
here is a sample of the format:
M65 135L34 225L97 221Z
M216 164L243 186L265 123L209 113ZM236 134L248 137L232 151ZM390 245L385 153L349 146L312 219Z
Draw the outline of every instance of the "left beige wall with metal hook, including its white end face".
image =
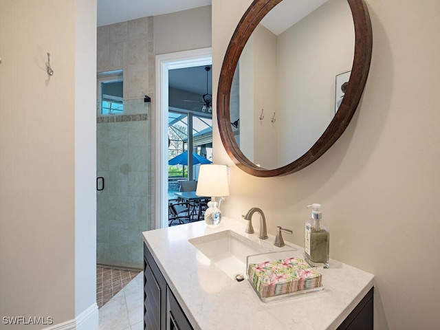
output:
M77 17L85 13L88 22ZM2 318L52 317L55 325L74 325L76 316L84 318L85 310L96 305L96 268L90 254L96 249L91 239L95 199L87 199L90 186L94 193L94 129L83 122L87 107L94 112L90 82L96 72L95 33L96 1L2 1ZM51 77L45 67L47 52ZM93 91L86 91L90 86ZM83 249L91 256L83 259Z

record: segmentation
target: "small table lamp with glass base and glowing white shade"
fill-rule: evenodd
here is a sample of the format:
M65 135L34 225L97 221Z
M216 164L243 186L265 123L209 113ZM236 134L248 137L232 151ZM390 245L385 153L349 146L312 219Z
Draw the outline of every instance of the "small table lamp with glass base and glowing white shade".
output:
M224 196L229 196L228 167L219 164L201 165L195 194L211 197L205 211L205 222L210 226L218 225L221 221L221 212L215 197L221 197L220 201L222 201Z

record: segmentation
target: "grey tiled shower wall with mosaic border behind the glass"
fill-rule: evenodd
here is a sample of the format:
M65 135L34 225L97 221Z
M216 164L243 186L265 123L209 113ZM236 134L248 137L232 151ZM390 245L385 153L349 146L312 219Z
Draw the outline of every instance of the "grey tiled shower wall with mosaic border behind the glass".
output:
M143 267L141 232L152 228L153 18L98 28L98 72L123 70L124 114L97 115L97 263ZM152 102L144 102L144 95Z

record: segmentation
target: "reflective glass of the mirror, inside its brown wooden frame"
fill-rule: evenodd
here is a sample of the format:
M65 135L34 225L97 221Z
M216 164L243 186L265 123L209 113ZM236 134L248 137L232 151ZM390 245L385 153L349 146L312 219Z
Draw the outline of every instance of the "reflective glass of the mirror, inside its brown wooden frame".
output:
M231 129L243 155L267 169L304 155L335 115L343 96L336 76L351 70L354 47L347 0L276 5L252 32L232 80Z

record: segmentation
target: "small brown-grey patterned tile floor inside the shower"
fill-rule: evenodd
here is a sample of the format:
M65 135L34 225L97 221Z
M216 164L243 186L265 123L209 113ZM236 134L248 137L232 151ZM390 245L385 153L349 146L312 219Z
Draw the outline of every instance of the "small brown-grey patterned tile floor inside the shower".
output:
M140 270L119 270L96 265L96 303L101 308L122 288L129 284Z

